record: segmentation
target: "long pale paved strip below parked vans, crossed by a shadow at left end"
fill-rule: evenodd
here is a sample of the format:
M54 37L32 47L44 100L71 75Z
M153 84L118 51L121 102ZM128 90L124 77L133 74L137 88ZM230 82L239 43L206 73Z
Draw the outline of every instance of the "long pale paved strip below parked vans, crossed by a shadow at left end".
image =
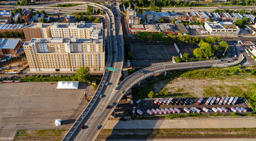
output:
M108 120L104 129L166 128L249 128L256 127L255 117L187 117L166 120Z

